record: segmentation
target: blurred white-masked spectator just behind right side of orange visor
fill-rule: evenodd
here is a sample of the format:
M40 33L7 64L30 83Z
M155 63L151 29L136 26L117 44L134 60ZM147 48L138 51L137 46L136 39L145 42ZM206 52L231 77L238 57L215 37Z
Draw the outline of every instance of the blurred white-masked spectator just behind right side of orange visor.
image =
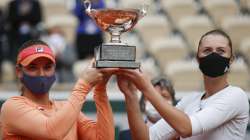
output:
M60 26L48 27L48 36L43 39L51 47L56 56L56 72L58 82L73 82L72 65L76 60L75 50L70 46Z

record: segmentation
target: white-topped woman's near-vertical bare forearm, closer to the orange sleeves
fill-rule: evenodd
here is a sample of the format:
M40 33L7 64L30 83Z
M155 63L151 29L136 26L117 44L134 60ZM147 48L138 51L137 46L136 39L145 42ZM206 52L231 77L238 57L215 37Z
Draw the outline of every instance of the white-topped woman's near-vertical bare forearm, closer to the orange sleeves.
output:
M133 140L149 140L149 130L141 115L137 96L127 96L125 102Z

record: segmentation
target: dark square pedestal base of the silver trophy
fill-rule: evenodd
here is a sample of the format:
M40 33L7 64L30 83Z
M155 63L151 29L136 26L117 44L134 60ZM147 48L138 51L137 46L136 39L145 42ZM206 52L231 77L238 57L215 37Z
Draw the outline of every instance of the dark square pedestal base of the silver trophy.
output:
M96 68L131 68L140 67L135 62L136 47L125 44L102 44L95 48Z

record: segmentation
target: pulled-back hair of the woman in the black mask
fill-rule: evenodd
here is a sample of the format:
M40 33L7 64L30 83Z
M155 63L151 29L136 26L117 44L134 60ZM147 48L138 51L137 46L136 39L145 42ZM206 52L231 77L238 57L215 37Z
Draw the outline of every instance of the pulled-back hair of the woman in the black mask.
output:
M220 36L225 37L227 39L227 41L228 41L228 46L231 49L231 55L233 56L232 40L231 40L231 38L229 37L229 35L226 32L224 32L223 30L220 30L220 29L215 29L215 30L208 31L204 35L201 36L200 41L199 41L199 45L198 45L197 55L198 55L199 48L200 48L200 46L202 44L203 39L208 35L220 35Z

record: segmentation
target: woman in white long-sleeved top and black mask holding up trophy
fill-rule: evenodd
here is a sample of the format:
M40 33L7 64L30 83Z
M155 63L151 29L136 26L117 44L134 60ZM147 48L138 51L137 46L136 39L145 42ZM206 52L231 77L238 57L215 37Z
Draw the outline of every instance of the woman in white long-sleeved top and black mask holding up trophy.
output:
M203 73L204 92L188 95L176 107L165 100L139 70L121 69L118 86L125 95L129 126L135 140L243 140L249 120L247 94L228 83L234 54L230 37L222 30L205 33L196 53ZM192 79L189 79L192 82ZM131 83L132 81L132 83ZM134 84L161 114L151 127L145 125L139 110Z

